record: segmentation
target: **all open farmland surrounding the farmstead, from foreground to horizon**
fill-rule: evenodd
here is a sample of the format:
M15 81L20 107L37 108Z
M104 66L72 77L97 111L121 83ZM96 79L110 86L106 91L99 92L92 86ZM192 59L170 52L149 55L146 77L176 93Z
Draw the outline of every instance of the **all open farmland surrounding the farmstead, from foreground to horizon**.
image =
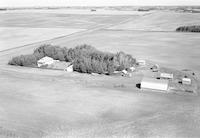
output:
M86 43L199 75L200 34L173 29L180 22L198 24L199 14L168 12L0 13L0 27L7 28L3 33L7 39L0 37L4 50L0 52L0 137L199 137L199 96L140 91L135 84L141 73L125 78L7 65L13 56L32 53L40 44L74 47ZM175 20L183 16L184 20ZM39 42L43 35L50 40Z

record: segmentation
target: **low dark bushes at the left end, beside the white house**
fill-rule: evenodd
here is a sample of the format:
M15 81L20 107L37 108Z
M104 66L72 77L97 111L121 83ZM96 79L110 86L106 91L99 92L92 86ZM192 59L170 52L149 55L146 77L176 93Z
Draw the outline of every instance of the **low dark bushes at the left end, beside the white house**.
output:
M12 58L12 60L10 60L8 64L18 66L36 66L37 58L35 57L35 55L21 55Z

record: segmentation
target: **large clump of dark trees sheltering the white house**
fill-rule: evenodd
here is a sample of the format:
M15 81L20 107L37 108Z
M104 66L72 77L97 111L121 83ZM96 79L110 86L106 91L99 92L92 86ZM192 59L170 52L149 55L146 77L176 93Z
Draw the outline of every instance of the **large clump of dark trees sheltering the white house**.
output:
M73 69L82 73L111 74L130 68L136 60L129 54L101 52L90 45L81 45L75 48L61 48L53 45L42 45L31 55L21 55L9 61L10 65L36 66L37 60L42 57L52 57L55 60L72 62Z

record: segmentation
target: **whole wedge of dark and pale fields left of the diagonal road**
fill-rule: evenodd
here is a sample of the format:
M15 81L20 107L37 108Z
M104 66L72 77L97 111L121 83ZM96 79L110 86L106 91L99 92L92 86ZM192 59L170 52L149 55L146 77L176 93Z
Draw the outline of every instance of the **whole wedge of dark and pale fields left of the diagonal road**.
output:
M86 29L116 24L130 17L138 16L137 13L134 15L87 15L73 14L73 11L61 11L14 10L0 12L0 51Z

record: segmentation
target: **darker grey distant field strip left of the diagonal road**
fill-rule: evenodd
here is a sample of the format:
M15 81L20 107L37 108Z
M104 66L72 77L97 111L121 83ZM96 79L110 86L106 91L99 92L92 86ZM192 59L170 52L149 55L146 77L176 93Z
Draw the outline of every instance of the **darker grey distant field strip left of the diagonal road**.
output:
M0 27L89 29L113 24L134 15L84 15L65 13L0 12Z

